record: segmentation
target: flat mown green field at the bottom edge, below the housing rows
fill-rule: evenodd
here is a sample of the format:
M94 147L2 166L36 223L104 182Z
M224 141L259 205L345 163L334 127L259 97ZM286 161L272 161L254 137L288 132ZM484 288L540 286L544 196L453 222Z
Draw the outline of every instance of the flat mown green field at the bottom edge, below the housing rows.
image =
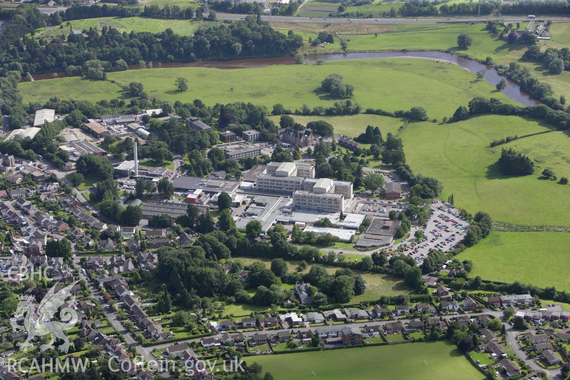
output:
M325 352L304 352L249 358L276 380L307 380L312 371L327 380L347 378L346 369L358 369L358 378L376 380L478 380L484 375L447 341L374 346ZM402 367L405 363L405 367ZM427 363L427 366L425 365Z

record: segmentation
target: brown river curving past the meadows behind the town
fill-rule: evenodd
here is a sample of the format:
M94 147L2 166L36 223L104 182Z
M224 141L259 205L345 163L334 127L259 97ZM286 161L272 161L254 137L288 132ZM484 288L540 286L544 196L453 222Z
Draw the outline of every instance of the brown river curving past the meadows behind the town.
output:
M450 54L443 51L417 51L417 52L377 52L377 53L333 53L333 54L312 54L305 56L307 63L315 63L318 59L325 61L335 61L344 59L373 59L373 58L422 58L433 59L452 62L458 66L472 72L487 70L483 78L492 85L499 83L501 79L507 81L507 87L503 89L504 95L522 105L536 105L540 101L534 96L524 91L520 86L513 81L507 79L503 75L490 66L485 66L477 61L463 58L461 56ZM274 57L274 58L244 58L232 59L227 61L205 60L197 62L169 62L162 63L161 67L213 67L221 69L234 69L234 68L251 68L251 67L266 67L276 64L295 64L295 58L292 56ZM158 63L153 63L153 67L158 67ZM129 70L138 69L138 64L129 65ZM58 76L65 76L63 72L59 72ZM35 80L51 79L53 73L38 74L34 76ZM22 78L25 80L25 78Z

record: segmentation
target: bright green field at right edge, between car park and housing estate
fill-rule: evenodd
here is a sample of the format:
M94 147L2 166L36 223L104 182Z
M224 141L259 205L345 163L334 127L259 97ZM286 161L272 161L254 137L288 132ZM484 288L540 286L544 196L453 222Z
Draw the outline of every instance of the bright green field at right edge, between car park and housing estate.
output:
M457 256L473 260L471 277L570 291L566 232L491 232Z

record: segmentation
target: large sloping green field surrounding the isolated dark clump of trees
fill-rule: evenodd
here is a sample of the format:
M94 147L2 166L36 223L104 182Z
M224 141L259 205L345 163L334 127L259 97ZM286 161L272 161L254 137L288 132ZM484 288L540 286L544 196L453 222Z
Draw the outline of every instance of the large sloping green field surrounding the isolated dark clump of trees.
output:
M530 225L570 223L566 199L570 187L544 180L544 167L570 177L570 140L565 132L549 132L502 145L527 153L535 173L505 176L496 161L501 146L492 140L548 130L548 125L518 116L484 115L449 125L412 124L401 134L406 163L414 173L441 179L441 199L453 193L455 206L470 213L486 211L495 220Z

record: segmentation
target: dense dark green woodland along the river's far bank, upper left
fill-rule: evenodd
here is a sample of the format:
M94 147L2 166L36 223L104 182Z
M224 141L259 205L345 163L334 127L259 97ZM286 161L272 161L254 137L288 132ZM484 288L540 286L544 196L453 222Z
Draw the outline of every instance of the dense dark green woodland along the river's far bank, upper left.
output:
M20 7L24 7L19 10ZM29 21L24 17L14 19L22 23L11 22L2 36L3 47L9 54L0 57L2 71L6 65L21 63L21 72L50 72L65 70L68 66L83 66L88 60L99 59L110 62L115 67L117 61L127 64L174 60L227 59L241 56L283 56L291 55L303 44L299 35L284 35L272 29L268 24L249 15L235 23L217 23L202 25L194 36L177 35L171 29L157 34L149 32L119 32L115 28L103 27L101 31L89 28L87 36L70 34L66 40L52 39L42 45L33 36L25 35L34 28L45 26L49 16L36 14L35 6L18 6L20 12L29 14ZM78 6L81 18L103 17L104 6ZM66 13L74 12L70 7ZM35 9L35 10L34 10ZM78 10L78 11L79 11ZM62 17L65 21L66 18ZM22 39L21 39L22 38ZM2 46L2 45L0 45Z

